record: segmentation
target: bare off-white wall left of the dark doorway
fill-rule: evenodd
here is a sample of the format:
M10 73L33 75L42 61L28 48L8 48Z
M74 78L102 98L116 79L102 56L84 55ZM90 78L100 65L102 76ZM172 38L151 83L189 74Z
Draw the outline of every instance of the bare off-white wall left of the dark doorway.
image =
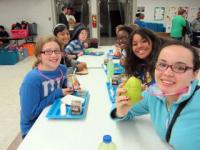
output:
M49 35L55 19L52 11L52 0L0 0L0 24L9 31L13 23L36 22L38 35Z

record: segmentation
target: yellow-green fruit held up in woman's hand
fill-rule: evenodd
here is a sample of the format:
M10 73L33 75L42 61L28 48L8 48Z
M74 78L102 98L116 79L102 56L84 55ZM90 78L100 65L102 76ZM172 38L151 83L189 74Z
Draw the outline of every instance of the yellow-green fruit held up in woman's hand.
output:
M142 92L140 79L136 77L130 77L123 88L127 90L124 95L129 97L129 103L131 105L140 101Z

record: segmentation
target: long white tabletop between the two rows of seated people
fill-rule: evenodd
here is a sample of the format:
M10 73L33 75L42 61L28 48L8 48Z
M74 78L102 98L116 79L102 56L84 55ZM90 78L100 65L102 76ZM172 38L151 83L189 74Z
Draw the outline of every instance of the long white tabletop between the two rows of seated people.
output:
M93 56L97 59L97 56ZM118 150L168 150L152 128L148 115L134 121L115 122L109 114L111 102L106 90L103 69L89 69L79 76L90 99L83 120L48 120L46 108L19 146L19 150L97 150L104 134L110 134Z

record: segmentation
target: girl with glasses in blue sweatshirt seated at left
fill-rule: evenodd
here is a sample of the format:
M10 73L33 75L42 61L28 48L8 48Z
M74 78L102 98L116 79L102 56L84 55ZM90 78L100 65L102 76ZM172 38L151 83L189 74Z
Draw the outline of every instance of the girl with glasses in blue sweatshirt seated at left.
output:
M35 67L25 76L19 92L23 138L45 107L74 90L66 86L67 68L60 64L61 53L55 37L41 38L36 44Z

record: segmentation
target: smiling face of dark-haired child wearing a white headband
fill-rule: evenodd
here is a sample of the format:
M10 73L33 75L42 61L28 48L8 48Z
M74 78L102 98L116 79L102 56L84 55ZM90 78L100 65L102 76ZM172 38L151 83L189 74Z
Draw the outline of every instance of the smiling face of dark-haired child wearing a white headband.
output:
M70 40L70 34L67 29L64 29L62 32L58 32L56 37L63 46L65 46Z

